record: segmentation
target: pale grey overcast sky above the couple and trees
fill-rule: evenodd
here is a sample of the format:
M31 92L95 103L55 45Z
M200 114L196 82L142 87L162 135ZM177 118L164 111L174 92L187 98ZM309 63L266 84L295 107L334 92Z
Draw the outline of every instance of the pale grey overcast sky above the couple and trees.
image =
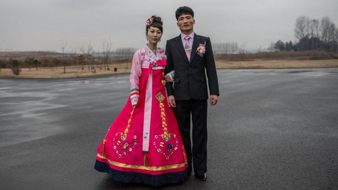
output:
M142 48L146 44L145 21L162 18L161 47L180 31L175 10L189 6L195 12L197 34L212 43L245 43L247 49L268 47L270 42L294 41L299 16L338 25L338 0L0 0L0 51L66 51L91 42L95 51L111 37L113 47Z

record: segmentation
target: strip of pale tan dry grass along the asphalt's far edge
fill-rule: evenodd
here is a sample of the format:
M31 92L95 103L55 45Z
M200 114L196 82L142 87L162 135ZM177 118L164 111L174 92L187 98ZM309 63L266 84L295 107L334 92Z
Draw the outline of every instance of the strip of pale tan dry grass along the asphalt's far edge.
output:
M96 66L96 73L88 71L88 67L70 66L66 68L66 73L63 73L63 67L53 68L35 68L28 70L22 68L20 75L14 75L10 69L2 69L0 77L10 78L77 78L77 77L90 77L90 76L104 76L115 74L128 74L130 73L130 66L126 68L126 63L112 64L111 70L99 69ZM117 72L114 72L114 67ZM256 60L256 61L216 61L217 69L289 69L289 68L338 68L338 60Z

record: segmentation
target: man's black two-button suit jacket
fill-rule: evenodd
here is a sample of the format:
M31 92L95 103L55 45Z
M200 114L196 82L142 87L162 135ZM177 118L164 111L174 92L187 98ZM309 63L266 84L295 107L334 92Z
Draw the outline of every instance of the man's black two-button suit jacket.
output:
M204 44L204 42L206 42L206 52L200 56L196 50L199 44ZM210 94L219 95L214 54L208 37L195 33L190 62L184 50L181 35L167 41L166 55L165 73L175 70L174 82L166 84L168 96L174 95L176 100L208 99L206 73Z

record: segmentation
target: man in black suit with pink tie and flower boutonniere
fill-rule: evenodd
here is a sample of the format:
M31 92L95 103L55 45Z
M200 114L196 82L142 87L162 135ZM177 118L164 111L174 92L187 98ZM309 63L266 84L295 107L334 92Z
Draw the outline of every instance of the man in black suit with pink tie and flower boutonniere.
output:
M207 109L208 86L210 105L216 105L219 90L214 54L208 37L194 33L194 11L187 7L176 10L181 33L167 41L166 73L175 70L173 82L167 82L168 100L175 110L179 130L188 157L188 174L207 180ZM206 26L208 27L208 26ZM190 141L192 116L192 149Z

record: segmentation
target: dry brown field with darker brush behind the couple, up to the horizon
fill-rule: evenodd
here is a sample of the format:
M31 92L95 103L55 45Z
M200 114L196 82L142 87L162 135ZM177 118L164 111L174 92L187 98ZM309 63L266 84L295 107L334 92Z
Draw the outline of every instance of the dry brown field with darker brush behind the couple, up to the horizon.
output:
M67 63L74 64L74 60L67 54ZM9 58L18 60L22 66L20 75L14 75L8 68ZM38 70L31 66L30 71L25 65L26 57L34 57L43 64L44 67L39 67ZM73 77L89 77L89 76L103 76L115 74L130 73L132 55L129 56L112 56L110 70L100 69L102 57L97 56L94 60L95 72L88 71L88 66L84 65L84 70L81 66L68 66L66 73L60 64L57 68L51 65L51 60L58 58L62 60L62 54L57 52L0 52L0 61L5 61L7 67L1 69L0 78L73 78ZM335 68L338 67L338 53L325 51L276 51L276 52L259 52L247 54L216 54L216 68L217 69L290 69L290 68ZM54 66L54 67L51 67ZM117 71L114 71L117 68Z

